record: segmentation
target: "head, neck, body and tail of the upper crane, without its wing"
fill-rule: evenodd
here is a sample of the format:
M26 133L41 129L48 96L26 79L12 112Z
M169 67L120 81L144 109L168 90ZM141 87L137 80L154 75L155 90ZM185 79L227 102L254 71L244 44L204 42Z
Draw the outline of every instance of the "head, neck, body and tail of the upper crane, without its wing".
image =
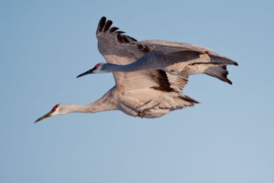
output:
M228 58L208 56L206 53L197 54L196 58L191 58L189 60L180 60L174 56L159 56L157 53L149 53L131 64L120 65L101 63L100 67L95 71L92 71L92 73L134 72L145 69L162 69L171 75L178 76L205 73L212 77L216 77L223 82L232 84L232 82L227 79L227 64L238 65ZM79 75L79 77L90 73L91 72L88 71Z

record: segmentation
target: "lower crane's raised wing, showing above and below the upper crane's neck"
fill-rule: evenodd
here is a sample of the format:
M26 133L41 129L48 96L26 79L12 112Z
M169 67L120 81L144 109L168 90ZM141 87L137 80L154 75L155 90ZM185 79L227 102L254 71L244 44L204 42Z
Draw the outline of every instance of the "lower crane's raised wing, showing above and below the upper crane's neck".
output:
M98 49L105 60L112 64L130 64L142 58L149 47L138 44L135 38L123 35L118 27L111 27L112 21L103 16L99 21L96 36ZM147 49L146 49L147 48ZM170 75L161 70L138 71L134 73L113 73L116 85L128 90L157 88L159 90L180 91L188 82L188 77Z

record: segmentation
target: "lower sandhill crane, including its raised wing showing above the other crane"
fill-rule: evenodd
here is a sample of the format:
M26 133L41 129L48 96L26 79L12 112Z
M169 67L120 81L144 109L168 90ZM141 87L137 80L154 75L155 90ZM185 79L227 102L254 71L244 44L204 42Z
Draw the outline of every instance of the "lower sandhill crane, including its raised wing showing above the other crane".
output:
M112 64L130 64L142 57L145 52L138 47L123 49L119 38L136 42L134 38L125 36L111 27L112 21L99 22L96 32L99 51L105 60ZM97 65L99 66L99 65ZM114 72L116 85L105 93L101 99L86 106L59 103L50 112L37 119L34 123L59 114L71 112L101 112L121 110L133 117L157 118L172 110L194 106L199 103L195 99L183 95L181 90L188 82L188 75L177 76L161 69L149 69L136 72Z

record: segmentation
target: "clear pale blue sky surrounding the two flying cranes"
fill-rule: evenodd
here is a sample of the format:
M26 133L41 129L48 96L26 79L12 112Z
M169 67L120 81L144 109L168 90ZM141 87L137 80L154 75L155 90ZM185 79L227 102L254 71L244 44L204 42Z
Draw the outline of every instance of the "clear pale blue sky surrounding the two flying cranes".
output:
M274 182L273 1L0 1L0 182ZM201 104L160 119L120 111L33 122L88 104L112 74L101 16L137 40L188 42L232 58L232 86L190 77Z

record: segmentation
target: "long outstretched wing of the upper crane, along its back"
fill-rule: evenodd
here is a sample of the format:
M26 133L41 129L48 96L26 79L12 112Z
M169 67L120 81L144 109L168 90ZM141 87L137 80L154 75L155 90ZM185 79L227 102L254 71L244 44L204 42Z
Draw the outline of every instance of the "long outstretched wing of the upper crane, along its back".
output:
M195 60L195 62L201 61L202 63L206 61L206 57L208 57L211 63L238 65L234 60L220 56L211 49L199 45L166 40L142 40L135 44L147 52L140 60L145 62L150 60L149 64L154 67L161 65L165 67L177 62L188 62L191 60ZM157 60L151 58L157 58ZM153 60L153 62L151 62L151 60Z

